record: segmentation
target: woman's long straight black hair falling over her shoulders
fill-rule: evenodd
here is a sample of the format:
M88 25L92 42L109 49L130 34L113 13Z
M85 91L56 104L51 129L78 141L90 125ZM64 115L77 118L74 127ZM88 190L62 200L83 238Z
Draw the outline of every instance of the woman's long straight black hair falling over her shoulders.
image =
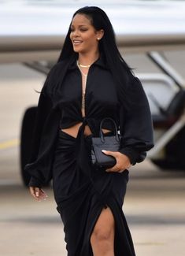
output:
M78 9L76 13L73 14L72 19L76 16L76 14L85 15L88 19L91 20L91 24L97 31L101 29L104 31L104 35L98 44L100 54L103 55L106 65L108 65L109 69L113 73L113 77L117 82L119 92L121 93L121 95L126 96L128 92L127 87L129 83L129 77L133 75L131 72L131 68L124 61L124 58L122 58L120 51L117 48L115 32L113 30L113 25L111 24L109 17L102 9L96 6L85 6ZM61 50L60 57L58 58L58 62L64 60L69 61L72 58L76 58L77 56L72 47L70 33L71 24L68 28L68 33L66 35L65 43ZM124 98L125 102L128 102L128 97Z

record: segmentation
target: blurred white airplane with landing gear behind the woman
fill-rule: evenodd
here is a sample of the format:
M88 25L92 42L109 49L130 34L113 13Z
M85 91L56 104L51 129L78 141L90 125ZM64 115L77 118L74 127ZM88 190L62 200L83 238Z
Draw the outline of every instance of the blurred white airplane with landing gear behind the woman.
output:
M57 61L72 14L82 6L99 6L113 23L120 51L146 54L164 72L137 74L154 120L155 147L148 157L168 169L185 169L185 82L162 56L185 49L185 2L182 1L6 1L0 9L0 63L21 62L47 73ZM21 174L36 107L24 114L20 138Z

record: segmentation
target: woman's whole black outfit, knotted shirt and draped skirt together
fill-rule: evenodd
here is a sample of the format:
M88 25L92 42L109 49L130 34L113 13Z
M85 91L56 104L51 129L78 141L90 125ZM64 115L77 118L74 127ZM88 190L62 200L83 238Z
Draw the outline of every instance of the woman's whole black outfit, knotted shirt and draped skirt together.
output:
M86 125L97 136L102 118L111 117L123 138L120 153L126 154L133 165L144 160L146 151L154 146L150 108L138 78L131 76L127 86L129 107L125 107L112 73L99 58L87 76L85 117L81 113L82 84L76 60L54 65L41 91L31 161L25 170L31 175L29 186L42 187L53 179L68 256L92 255L91 232L107 206L116 224L115 255L135 255L122 211L128 170L105 173L105 169L94 169L91 136L84 138ZM76 138L61 132L78 123L81 125ZM109 122L103 128L112 130Z

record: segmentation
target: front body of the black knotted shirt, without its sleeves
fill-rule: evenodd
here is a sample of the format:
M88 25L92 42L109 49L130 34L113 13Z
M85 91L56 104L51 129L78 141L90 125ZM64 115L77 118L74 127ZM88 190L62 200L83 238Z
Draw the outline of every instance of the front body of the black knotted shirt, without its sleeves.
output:
M61 87L61 128L68 128L83 121L82 117L82 77L76 61L68 67ZM113 76L106 69L102 59L91 65L85 91L85 118L94 135L98 121L112 117L119 125L120 103ZM105 127L110 124L105 124ZM111 128L111 127L110 127Z

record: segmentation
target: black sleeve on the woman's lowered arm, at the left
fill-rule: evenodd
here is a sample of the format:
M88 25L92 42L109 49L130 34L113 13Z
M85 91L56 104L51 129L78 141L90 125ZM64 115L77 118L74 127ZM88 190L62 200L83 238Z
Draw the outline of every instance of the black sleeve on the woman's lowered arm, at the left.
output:
M54 109L54 102L52 102L50 94L47 92L51 83L54 83L54 69L50 70L39 96L31 143L31 158L24 168L31 175L28 186L33 187L42 187L51 179L51 154L53 154L52 149L58 128L58 113ZM50 158L46 157L48 154L50 154Z

